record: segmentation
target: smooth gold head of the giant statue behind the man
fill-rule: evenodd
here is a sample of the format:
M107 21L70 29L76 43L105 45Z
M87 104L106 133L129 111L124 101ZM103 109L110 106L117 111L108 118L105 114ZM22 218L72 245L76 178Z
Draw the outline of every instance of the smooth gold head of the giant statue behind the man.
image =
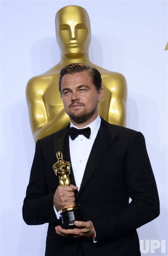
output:
M91 41L89 15L83 7L69 5L61 8L55 17L56 38L61 53L68 58L80 58Z

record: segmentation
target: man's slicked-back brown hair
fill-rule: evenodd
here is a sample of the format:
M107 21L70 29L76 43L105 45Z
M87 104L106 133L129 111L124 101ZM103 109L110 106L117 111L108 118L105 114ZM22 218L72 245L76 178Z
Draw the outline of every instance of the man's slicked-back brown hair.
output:
M101 79L101 74L100 74L99 70L97 70L96 68L87 66L83 63L76 62L76 63L71 63L61 69L60 78L59 78L59 92L61 93L61 83L62 83L62 78L64 75L75 74L75 73L79 73L79 72L83 72L83 71L88 72L88 74L91 77L92 83L96 87L96 90L99 91L100 88L102 87L102 85L101 85L102 79Z

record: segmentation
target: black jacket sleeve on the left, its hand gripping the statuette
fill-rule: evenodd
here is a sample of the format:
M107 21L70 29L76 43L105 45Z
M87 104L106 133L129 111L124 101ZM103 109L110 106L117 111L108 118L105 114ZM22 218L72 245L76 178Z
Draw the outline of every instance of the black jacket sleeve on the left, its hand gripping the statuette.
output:
M28 225L55 223L57 221L53 207L54 193L48 192L43 160L40 154L39 140L30 172L30 180L23 202L23 219Z

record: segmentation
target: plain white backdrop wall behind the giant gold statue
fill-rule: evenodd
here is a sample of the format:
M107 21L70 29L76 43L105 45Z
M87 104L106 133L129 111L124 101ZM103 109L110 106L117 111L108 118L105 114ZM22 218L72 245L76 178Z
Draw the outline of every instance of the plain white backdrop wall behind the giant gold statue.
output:
M127 80L127 127L146 138L161 203L159 217L138 229L141 252L167 255L167 1L0 3L1 255L44 255L47 224L22 219L35 149L25 89L29 78L59 61L55 14L70 4L89 13L91 61Z

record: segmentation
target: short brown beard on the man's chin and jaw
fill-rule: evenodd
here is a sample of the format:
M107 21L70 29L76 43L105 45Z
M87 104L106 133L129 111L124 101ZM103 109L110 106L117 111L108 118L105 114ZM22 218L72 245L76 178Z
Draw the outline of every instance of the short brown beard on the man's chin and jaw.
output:
M72 119L74 122L76 122L77 124L82 124L86 121L88 121L89 119L91 119L91 117L94 115L96 109L97 109L97 104L95 104L95 106L93 106L93 108L90 111L87 111L87 109L85 108L85 104L82 104L82 106L84 106L84 109L82 112L77 112L77 113L69 113L69 117L70 119Z

